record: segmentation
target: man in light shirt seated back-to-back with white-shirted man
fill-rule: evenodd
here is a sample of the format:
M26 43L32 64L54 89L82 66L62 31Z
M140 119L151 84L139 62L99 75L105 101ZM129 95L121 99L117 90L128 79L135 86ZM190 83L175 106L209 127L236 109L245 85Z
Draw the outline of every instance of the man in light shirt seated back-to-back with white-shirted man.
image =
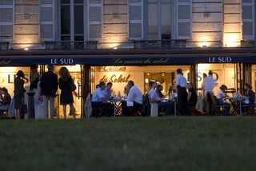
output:
M159 97L158 93L156 92L155 88L157 87L157 83L154 82L152 88L150 89L150 100L152 103L157 102L158 107L166 107L165 116L174 115L174 103L172 101L162 101L163 97Z

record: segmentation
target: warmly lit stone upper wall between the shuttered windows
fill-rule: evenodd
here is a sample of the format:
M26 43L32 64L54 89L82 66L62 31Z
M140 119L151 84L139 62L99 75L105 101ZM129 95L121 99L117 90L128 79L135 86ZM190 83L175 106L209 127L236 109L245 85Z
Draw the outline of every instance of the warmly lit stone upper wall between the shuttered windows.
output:
M186 47L241 46L241 1L192 0L192 38L186 41ZM10 42L9 49L44 49L44 43L39 40L39 1L14 2L14 42ZM256 3L254 5L256 6ZM97 42L97 48L133 48L133 42L129 41L128 21L128 0L104 0L103 36L102 40ZM256 33L256 30L254 32ZM57 38L56 36L56 40Z

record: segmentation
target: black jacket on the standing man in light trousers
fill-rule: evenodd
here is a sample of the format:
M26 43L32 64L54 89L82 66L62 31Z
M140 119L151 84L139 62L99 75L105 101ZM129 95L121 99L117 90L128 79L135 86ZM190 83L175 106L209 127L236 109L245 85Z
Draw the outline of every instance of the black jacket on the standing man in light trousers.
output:
M51 71L42 74L41 82L41 93L46 96L56 97L58 90L58 76Z

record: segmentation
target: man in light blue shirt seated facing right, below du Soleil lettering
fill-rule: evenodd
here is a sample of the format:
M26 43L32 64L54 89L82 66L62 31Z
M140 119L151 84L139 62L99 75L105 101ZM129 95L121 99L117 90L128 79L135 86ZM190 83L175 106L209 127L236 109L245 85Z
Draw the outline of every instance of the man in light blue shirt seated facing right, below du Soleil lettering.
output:
M98 108L98 107L105 108L104 116L110 117L112 105L110 105L110 103L105 102L106 100L110 99L110 98L104 97L102 90L104 90L105 88L106 88L105 82L100 82L98 89L94 90L93 97L91 99L91 106L93 108Z

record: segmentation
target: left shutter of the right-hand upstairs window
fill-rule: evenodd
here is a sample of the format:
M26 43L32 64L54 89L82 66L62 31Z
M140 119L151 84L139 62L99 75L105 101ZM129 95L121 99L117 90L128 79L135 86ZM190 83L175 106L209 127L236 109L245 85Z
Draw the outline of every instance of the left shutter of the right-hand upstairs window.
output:
M142 0L129 0L129 39L143 39L143 6Z

